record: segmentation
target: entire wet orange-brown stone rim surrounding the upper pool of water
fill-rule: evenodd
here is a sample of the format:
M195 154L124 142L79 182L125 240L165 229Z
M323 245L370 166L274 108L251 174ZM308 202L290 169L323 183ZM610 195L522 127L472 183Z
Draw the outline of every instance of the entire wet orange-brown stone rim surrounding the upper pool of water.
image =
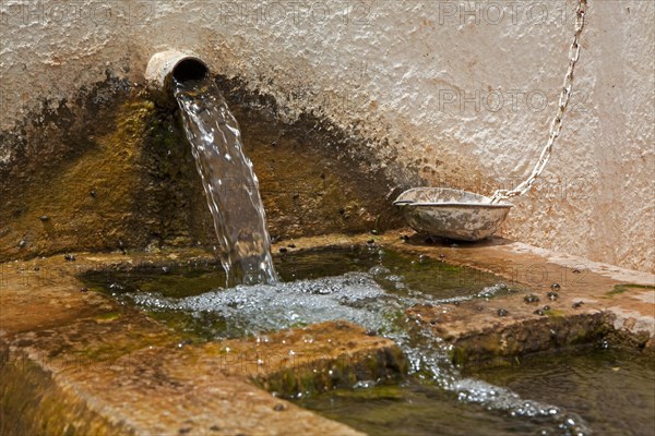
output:
M462 366L602 338L653 352L652 275L502 239L452 245L417 235L401 240L406 233L373 239L526 284L540 305L550 305L547 314L535 314L535 303L513 293L412 307L407 315L451 343ZM302 251L370 239L325 235L294 244ZM320 392L406 373L393 341L343 322L282 330L265 344L252 338L188 343L143 313L86 291L78 278L94 269L192 259L212 256L200 250L78 253L74 262L57 255L0 265L2 433L358 434L270 392ZM559 298L549 301L553 283Z

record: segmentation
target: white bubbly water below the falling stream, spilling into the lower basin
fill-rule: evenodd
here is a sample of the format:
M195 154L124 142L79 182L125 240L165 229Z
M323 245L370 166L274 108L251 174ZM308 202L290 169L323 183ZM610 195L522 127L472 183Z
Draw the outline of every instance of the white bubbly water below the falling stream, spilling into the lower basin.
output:
M187 312L199 317L212 314L215 316L212 317L213 323L219 319L216 339L259 337L284 328L335 319L349 320L392 339L403 350L415 377L454 393L464 403L478 404L516 419L536 420L545 426L541 429L544 435L592 434L588 425L575 413L463 376L451 362L450 347L406 316L406 310L416 304L441 304L452 299L439 300L420 293L415 293L416 296L400 295L382 288L381 281L402 283L403 278L391 275L386 268L372 267L368 272L239 286L181 299L140 292L127 296L151 311ZM487 299L504 288L504 284L497 284L477 292L472 290L462 299ZM446 305L442 307L449 310ZM368 385L373 386L374 382Z

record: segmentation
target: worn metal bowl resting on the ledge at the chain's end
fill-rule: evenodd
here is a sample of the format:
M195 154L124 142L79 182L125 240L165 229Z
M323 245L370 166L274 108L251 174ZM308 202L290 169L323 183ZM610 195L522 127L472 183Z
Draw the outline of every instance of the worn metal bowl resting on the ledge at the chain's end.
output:
M421 233L479 241L498 230L513 206L473 192L450 187L414 187L393 202L409 226Z

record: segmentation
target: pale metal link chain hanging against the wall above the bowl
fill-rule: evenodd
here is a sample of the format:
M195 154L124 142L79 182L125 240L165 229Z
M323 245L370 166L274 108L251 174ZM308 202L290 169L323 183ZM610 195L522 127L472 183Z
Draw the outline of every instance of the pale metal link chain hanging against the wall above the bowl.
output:
M567 75L564 76L564 84L562 86L562 93L560 94L557 114L550 123L550 136L548 136L548 142L541 150L541 156L539 156L539 160L535 165L535 168L527 180L523 181L513 190L497 190L491 196L491 203L498 203L501 199L508 199L528 192L537 178L541 175L544 168L546 168L546 164L548 164L548 160L550 159L552 145L562 130L562 118L564 117L564 111L567 110L567 106L569 106L569 99L571 98L571 89L573 87L573 70L575 69L575 63L580 58L580 35L582 34L582 29L584 27L584 15L586 13L586 8L587 0L580 0L577 11L575 13L575 36L573 37L573 43L569 48L569 69L567 70Z

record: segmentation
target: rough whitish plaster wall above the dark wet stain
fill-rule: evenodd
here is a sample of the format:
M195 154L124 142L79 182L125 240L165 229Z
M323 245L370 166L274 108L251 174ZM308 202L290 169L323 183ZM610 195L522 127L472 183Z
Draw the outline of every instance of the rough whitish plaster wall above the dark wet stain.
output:
M503 234L653 271L654 3L590 3L561 141ZM186 49L274 96L289 120L312 110L369 138L381 161L405 168L396 180L490 193L527 174L547 137L574 9L571 0L2 1L0 129L45 99L70 101L107 72L142 82L153 53ZM12 159L1 144L0 165Z

